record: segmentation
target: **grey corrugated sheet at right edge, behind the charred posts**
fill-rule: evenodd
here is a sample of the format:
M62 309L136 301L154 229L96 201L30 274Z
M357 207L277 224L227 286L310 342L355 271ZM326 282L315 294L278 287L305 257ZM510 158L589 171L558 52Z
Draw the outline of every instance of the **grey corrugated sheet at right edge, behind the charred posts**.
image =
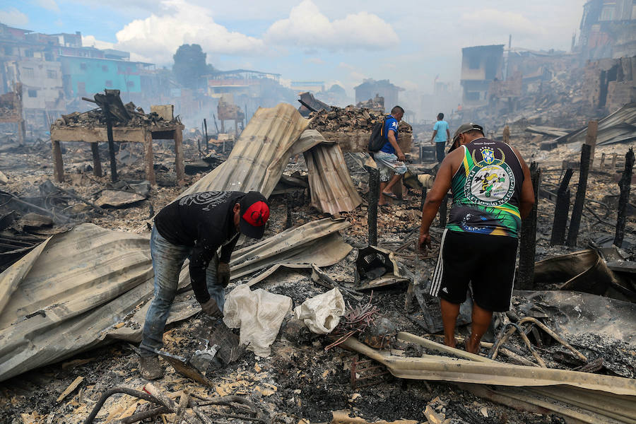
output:
M584 143L587 136L587 126L578 129L567 136L556 139L557 143ZM636 103L629 103L616 112L599 120L596 132L596 145L613 143L627 143L636 140Z

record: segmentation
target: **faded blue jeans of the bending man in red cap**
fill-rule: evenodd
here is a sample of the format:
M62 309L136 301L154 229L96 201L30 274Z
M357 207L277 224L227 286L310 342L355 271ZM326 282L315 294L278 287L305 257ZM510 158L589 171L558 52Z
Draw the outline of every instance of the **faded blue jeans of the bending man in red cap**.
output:
M143 336L139 348L142 356L155 355L163 347L163 330L170 314L172 301L177 295L179 273L184 261L192 253L192 247L173 245L163 238L153 226L151 233L151 256L155 273L155 290L151 306L146 313L143 324ZM223 312L225 290L216 283L216 267L218 257L210 261L206 271L206 285L211 298L216 300L218 308Z

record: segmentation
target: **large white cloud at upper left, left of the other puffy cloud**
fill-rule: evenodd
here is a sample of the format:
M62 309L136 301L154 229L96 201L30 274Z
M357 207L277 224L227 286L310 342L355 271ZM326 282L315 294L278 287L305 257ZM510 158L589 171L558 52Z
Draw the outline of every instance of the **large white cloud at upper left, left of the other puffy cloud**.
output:
M136 19L117 32L116 48L134 52L157 64L170 64L182 44L199 44L211 54L259 54L262 40L232 32L215 23L207 8L186 0L163 0L162 11Z

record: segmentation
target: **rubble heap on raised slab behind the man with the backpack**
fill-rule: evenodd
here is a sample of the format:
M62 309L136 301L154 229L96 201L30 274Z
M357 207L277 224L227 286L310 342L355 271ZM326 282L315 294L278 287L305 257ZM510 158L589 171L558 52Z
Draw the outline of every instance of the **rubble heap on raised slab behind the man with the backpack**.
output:
M347 107L332 106L331 111L312 112L309 117L312 119L308 126L309 129L317 129L318 131L370 132L373 129L373 125L382 120L383 115L367 107L348 105ZM400 122L399 131L412 133L413 128L406 122Z

